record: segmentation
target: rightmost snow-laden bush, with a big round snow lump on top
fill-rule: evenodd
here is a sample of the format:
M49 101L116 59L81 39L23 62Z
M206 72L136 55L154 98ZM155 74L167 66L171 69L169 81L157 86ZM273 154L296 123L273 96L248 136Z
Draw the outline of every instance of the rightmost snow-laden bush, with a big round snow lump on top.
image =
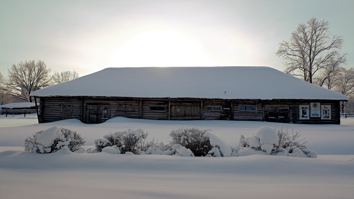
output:
M268 155L285 155L293 157L310 157L317 158L317 153L309 150L306 147L307 141L305 139L299 140L298 132L292 133L289 135L289 132L283 130L276 130L273 127L264 126L260 127L256 133L251 137L245 137L244 135L240 136L240 141L236 149L236 153L233 151L235 156L243 154L259 154L256 151L264 151ZM246 150L244 148L253 148ZM247 151L247 152L246 152ZM243 154L242 154L243 153Z

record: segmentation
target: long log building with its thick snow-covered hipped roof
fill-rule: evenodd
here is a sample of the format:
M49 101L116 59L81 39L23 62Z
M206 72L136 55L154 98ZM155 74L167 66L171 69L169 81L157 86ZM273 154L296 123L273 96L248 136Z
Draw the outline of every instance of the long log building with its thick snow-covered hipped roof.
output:
M113 117L339 124L347 96L269 67L107 68L32 93L40 123Z

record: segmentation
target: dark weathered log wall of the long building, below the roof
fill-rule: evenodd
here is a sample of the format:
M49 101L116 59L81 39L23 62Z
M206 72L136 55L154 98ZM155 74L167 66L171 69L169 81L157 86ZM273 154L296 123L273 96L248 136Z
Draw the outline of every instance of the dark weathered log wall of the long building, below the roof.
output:
M299 105L310 102L331 105L331 119L310 117L299 119ZM289 107L289 122L304 124L340 124L340 107L338 100L220 100L220 99L140 99L140 98L93 98L93 97L41 97L39 105L39 122L53 122L62 119L80 119L86 122L86 106L92 104L109 104L110 115L162 120L190 119L227 119L238 121L264 121L265 107ZM62 106L65 105L65 109ZM127 108L123 110L123 105ZM256 111L240 111L239 105L256 105ZM69 112L68 107L72 107ZM155 107L154 107L155 106ZM156 106L160 108L156 110ZM208 106L221 106L222 110L207 110ZM154 108L152 108L154 107ZM164 110L162 110L162 108ZM177 113L183 108L184 113ZM64 110L64 112L63 112Z

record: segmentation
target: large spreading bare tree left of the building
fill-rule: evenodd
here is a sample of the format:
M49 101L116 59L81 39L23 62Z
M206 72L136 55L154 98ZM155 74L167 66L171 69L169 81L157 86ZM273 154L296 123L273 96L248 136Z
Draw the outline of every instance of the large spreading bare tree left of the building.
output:
M21 61L7 71L8 79L1 88L14 98L32 102L33 91L50 86L50 69L42 60Z

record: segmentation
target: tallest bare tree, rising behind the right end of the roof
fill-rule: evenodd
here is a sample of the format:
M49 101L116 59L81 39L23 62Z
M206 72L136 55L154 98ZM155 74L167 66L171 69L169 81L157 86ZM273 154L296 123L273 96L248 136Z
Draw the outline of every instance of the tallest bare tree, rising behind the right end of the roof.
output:
M314 75L325 68L331 60L343 57L336 50L344 45L342 36L330 32L329 21L312 17L299 23L291 33L289 41L279 43L276 55L284 60L285 72L313 83Z

